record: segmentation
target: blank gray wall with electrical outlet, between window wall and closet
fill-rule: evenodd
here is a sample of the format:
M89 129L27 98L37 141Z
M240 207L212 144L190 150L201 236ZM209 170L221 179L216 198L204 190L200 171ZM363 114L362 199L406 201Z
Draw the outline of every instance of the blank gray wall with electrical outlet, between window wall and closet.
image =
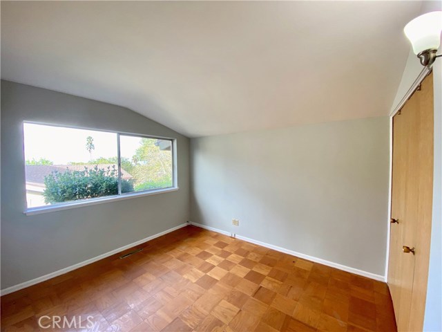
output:
M191 221L385 274L387 117L194 138L191 160Z

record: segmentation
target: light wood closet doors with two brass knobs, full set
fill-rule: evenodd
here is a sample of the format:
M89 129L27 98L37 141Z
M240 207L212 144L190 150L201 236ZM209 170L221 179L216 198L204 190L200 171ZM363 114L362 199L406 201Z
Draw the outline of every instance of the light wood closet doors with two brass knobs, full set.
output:
M388 284L398 331L421 331L427 289L433 178L433 85L428 75L393 118ZM403 246L414 248L404 252Z

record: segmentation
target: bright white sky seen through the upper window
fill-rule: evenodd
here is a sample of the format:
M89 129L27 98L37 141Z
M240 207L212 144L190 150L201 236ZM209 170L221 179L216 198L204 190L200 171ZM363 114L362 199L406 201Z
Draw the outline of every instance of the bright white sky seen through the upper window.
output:
M92 136L95 149L92 159L117 156L117 134L105 131L54 127L43 124L23 123L25 160L45 158L54 165L70 162L88 163L86 138ZM122 140L122 157L132 158L140 145L140 138Z

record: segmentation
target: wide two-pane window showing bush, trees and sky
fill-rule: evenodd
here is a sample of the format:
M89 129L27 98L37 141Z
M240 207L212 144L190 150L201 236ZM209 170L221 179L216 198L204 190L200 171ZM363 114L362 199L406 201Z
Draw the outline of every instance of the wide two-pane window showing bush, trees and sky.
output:
M23 123L28 210L174 187L173 140Z

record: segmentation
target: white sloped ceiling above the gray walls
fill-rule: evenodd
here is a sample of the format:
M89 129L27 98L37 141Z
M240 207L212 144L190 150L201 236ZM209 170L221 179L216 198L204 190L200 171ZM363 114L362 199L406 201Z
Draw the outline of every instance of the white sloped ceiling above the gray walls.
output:
M1 77L186 136L387 115L421 1L1 1Z

